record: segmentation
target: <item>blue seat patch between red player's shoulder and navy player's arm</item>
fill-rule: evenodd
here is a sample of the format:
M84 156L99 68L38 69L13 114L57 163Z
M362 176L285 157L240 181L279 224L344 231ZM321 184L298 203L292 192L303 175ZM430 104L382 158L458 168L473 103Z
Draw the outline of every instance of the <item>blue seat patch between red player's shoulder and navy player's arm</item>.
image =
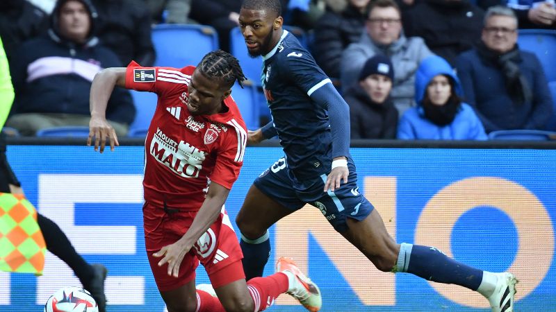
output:
M259 129L259 95L256 86L249 83L243 84L243 89L236 83L231 88L231 97L234 98L243 116L243 121L249 130Z

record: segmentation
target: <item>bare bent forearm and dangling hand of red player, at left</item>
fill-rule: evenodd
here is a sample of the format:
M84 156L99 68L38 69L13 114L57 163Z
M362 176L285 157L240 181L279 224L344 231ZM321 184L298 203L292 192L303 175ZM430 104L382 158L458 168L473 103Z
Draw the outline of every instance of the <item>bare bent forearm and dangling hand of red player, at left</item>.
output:
M108 99L114 90L114 87L125 87L126 84L126 68L112 67L99 71L92 80L91 91L89 96L89 105L91 119L89 121L89 137L87 146L91 145L92 138L95 137L95 152L99 150L104 152L106 146L106 138L110 141L110 150L114 150L114 146L119 146L114 128L106 121L106 105Z

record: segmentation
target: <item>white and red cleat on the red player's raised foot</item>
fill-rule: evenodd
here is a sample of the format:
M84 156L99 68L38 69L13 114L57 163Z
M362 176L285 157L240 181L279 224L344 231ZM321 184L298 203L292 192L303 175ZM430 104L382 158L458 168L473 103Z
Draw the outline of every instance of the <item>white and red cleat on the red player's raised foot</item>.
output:
M289 286L288 295L299 301L305 309L316 312L322 306L322 297L317 284L306 277L295 265L292 259L281 257L276 261L277 272L282 272L288 276Z

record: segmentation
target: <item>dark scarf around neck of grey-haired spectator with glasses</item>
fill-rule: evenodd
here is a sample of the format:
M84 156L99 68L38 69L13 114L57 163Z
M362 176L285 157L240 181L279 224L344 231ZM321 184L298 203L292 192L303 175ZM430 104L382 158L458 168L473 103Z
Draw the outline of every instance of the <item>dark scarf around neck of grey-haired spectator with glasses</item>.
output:
M518 66L518 62L521 62L521 53L517 44L514 49L502 54L487 48L484 43L479 44L477 51L482 58L501 69L506 81L506 90L514 103L531 103L533 98L531 87Z

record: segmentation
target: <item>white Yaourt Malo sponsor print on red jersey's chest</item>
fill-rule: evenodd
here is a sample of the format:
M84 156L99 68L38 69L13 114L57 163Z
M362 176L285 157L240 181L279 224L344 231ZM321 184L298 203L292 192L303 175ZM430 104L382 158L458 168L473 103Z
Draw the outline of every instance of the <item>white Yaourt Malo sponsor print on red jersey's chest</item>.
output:
M206 153L195 146L185 141L180 141L178 144L177 141L170 139L160 128L156 129L149 151L157 162L167 166L181 177L199 177L206 157Z

